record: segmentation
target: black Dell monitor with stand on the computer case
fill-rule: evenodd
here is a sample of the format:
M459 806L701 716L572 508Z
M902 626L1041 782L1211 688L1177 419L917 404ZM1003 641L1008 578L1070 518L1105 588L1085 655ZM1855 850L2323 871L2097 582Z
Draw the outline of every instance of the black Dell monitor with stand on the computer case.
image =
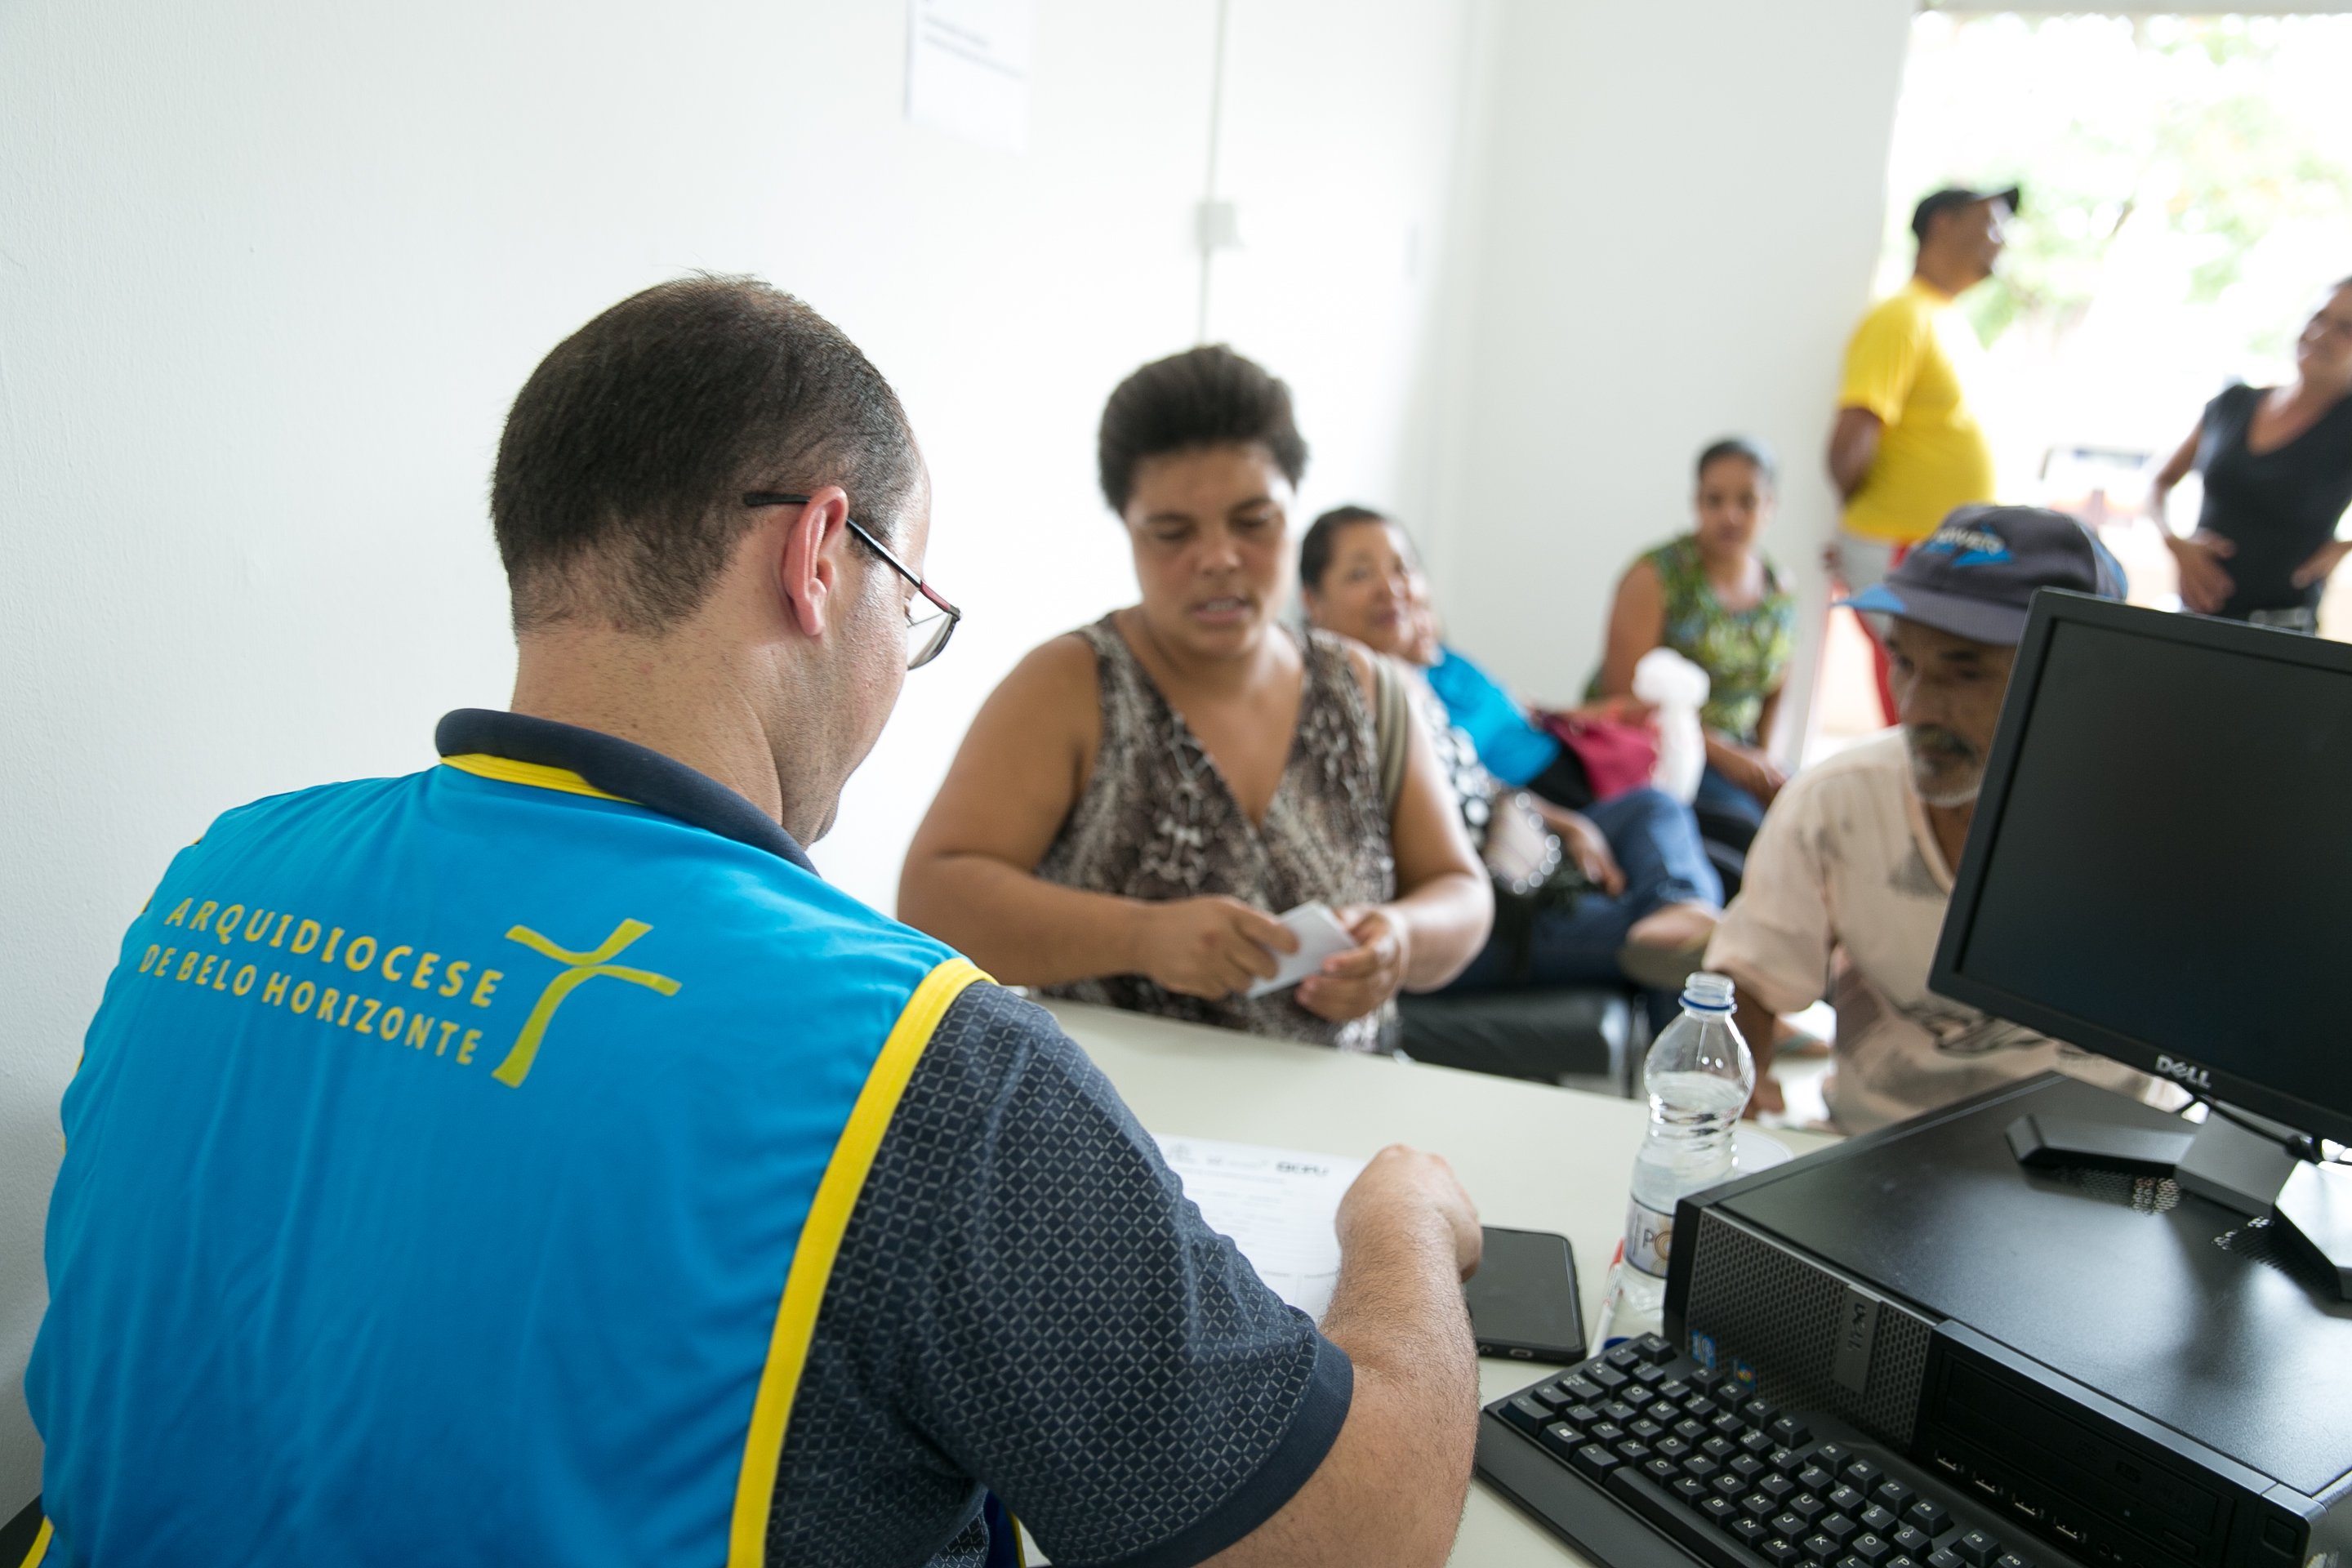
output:
M2310 1168L2317 1138L2352 1143L2347 973L2352 646L2034 595L1929 985L2211 1107L2194 1150L2039 1133L2246 1213L2319 1204L2326 1232L2352 1185Z

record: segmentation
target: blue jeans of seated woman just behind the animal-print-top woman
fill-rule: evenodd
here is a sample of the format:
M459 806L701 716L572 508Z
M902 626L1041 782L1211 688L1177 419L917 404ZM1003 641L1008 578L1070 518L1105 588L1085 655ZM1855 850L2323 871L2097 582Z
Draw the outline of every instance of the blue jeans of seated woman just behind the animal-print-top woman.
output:
M1446 990L1482 992L1519 985L1623 985L1616 950L1637 919L1670 903L1722 905L1724 884L1698 839L1691 809L1661 790L1628 790L1585 809L1625 870L1625 891L1578 893L1566 907L1536 910L1526 969L1515 943L1496 933Z

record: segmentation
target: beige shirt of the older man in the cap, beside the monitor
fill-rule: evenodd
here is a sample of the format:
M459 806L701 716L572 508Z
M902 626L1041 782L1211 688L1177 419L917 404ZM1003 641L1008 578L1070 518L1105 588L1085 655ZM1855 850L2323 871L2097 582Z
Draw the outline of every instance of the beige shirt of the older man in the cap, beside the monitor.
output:
M1867 1133L1983 1088L2060 1067L2140 1093L2119 1063L2044 1039L1926 987L1952 896L1893 729L1780 790L1748 851L1740 896L1708 945L1776 1013L1837 1006L1830 1119Z

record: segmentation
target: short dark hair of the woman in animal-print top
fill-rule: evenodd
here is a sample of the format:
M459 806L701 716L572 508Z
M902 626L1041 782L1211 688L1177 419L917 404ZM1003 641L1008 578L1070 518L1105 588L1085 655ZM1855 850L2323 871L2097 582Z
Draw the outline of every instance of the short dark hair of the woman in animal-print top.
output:
M1308 470L1308 444L1291 418L1291 388L1223 343L1152 360L1103 404L1096 463L1103 501L1124 515L1136 494L1136 465L1171 451L1258 444L1294 487Z

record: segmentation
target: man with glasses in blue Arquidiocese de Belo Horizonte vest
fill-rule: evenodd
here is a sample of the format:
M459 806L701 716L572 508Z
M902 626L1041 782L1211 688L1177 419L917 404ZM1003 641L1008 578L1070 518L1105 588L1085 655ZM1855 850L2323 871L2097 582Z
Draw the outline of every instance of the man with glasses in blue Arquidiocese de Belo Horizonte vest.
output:
M1437 1563L1470 1472L1444 1161L1322 1328L1040 1009L816 877L929 480L835 327L628 299L515 400L513 712L230 811L66 1095L26 1375L49 1563Z

